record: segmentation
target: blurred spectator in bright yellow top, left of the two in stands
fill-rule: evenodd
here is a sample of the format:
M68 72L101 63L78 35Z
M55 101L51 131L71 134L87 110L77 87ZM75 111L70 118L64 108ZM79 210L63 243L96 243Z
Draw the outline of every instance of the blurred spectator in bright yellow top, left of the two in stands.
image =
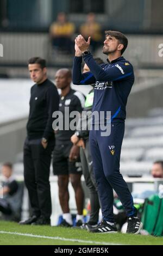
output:
M75 32L75 26L72 22L67 21L65 13L59 13L57 21L53 22L49 28L49 35L52 45L61 51L72 52L72 36Z

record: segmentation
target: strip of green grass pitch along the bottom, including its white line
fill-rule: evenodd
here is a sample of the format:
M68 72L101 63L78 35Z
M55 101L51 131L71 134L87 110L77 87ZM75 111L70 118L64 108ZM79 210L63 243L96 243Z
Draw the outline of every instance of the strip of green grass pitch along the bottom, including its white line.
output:
M24 226L0 221L0 245L163 245L163 237L93 234L77 228Z

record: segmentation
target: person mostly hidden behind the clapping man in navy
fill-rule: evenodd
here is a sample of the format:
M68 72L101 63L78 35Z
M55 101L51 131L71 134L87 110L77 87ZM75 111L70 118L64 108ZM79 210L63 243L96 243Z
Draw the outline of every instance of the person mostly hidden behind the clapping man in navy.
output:
M103 60L101 58L95 58L97 64L102 64ZM83 73L89 72L89 67L84 64ZM91 84L94 86L94 84ZM93 174L93 166L92 166L92 156L90 152L89 145L89 132L90 132L90 124L91 124L91 111L93 105L93 95L94 89L89 92L86 96L85 106L83 111L86 111L87 115L85 117L80 117L78 122L79 129L74 133L71 137L71 142L74 145L78 145L80 147L80 159L82 162L83 175L85 179L86 186L89 188L90 193L90 218L89 222L84 223L81 228L90 230L91 228L97 227L98 217L99 217L99 199L97 193L97 185L95 176ZM87 120L88 119L88 120ZM83 126L82 126L83 125ZM83 130L83 127L85 128Z

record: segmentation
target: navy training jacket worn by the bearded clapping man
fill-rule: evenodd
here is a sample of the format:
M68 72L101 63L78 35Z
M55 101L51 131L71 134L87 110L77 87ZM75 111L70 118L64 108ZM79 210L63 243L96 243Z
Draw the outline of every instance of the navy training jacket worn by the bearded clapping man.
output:
M92 112L104 111L101 120L104 124L106 111L111 111L111 123L124 122L128 95L134 84L133 66L123 57L98 65L91 53L84 56L84 62L90 72L82 74L82 57L74 57L72 81L74 84L95 83Z

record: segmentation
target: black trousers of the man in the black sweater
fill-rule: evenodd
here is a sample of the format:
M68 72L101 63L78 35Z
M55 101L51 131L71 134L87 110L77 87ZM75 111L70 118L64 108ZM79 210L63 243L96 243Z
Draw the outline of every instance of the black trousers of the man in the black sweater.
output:
M49 173L54 142L44 149L41 139L24 142L24 181L29 193L32 215L50 218L52 213Z

